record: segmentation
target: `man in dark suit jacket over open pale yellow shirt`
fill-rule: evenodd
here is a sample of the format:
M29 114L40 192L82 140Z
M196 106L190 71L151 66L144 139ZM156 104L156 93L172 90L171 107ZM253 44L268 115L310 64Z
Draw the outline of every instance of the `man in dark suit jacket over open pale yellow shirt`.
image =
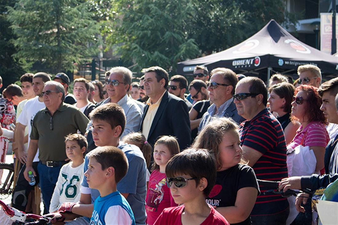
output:
M177 138L180 150L191 144L190 120L186 103L167 91L169 75L159 66L144 69L144 89L149 96L140 126L148 143L162 135Z

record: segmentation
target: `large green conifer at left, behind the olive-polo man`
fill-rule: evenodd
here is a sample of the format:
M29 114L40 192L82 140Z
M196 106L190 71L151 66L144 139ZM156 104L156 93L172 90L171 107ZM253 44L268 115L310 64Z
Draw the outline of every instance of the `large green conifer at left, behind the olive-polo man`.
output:
M28 68L39 63L51 73L72 70L98 51L98 26L87 1L20 0L8 11L18 36L15 56Z

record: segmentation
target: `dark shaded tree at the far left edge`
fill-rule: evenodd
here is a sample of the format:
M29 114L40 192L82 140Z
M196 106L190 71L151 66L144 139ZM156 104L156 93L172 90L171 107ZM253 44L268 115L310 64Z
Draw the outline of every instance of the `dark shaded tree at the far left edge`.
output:
M24 69L13 57L17 49L11 43L11 39L16 38L10 22L7 19L7 6L14 6L16 1L0 0L0 76L2 77L3 87L14 83L25 73Z

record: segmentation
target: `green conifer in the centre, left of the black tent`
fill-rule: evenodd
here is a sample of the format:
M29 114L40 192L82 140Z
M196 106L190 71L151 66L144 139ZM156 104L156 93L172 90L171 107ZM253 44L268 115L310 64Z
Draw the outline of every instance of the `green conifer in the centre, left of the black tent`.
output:
M197 43L185 32L193 10L190 0L125 2L120 20L112 25L117 33L108 41L120 44L118 54L137 63L135 70L159 65L175 71L178 61L199 54Z

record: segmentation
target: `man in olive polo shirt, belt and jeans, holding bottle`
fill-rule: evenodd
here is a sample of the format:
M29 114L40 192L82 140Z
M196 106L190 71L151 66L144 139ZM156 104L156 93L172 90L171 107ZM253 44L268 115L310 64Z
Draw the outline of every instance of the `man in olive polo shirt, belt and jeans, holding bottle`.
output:
M86 131L89 119L74 106L64 104L65 90L56 81L48 81L42 92L46 108L40 110L33 119L24 176L30 180L28 172L39 147L38 172L45 212L49 212L50 200L61 167L66 164L65 136Z

